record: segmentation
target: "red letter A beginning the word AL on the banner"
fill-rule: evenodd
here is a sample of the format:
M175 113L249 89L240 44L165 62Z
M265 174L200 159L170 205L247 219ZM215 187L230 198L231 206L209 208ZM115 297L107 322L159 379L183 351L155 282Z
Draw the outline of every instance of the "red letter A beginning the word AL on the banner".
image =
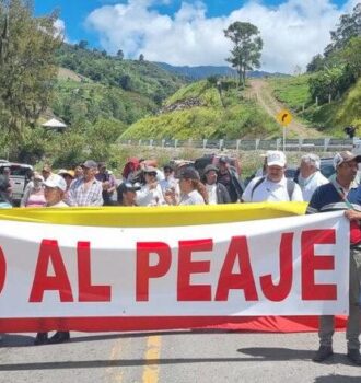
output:
M51 262L54 276L48 276L48 266ZM30 302L42 302L44 291L58 290L61 302L73 302L70 281L57 241L43 240L37 258L35 276Z

